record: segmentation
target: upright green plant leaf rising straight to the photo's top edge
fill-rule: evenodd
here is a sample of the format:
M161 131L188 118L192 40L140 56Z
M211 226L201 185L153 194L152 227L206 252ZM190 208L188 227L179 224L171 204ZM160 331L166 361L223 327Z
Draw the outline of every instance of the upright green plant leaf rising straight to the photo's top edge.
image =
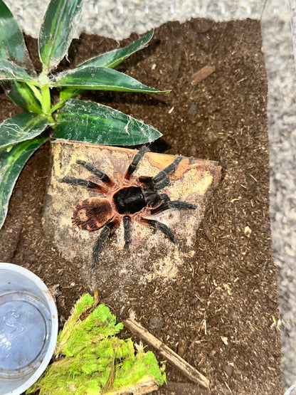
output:
M51 0L39 33L39 55L43 72L55 68L68 51L84 0Z

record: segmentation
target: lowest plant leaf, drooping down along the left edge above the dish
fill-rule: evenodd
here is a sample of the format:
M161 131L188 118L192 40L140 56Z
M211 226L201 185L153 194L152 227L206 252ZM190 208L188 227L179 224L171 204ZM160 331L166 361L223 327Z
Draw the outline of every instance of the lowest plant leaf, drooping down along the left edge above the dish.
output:
M21 169L46 140L48 137L26 140L16 144L9 152L0 152L0 228L5 221L9 199Z

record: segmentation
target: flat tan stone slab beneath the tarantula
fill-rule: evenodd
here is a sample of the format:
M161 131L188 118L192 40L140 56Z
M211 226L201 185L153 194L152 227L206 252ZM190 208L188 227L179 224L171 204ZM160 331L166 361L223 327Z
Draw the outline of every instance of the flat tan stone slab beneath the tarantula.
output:
M187 201L196 204L194 210L170 209L147 218L153 218L165 223L171 228L179 243L174 245L161 232L138 221L132 221L132 243L129 251L125 251L123 223L116 228L115 233L106 241L99 256L99 267L92 272L92 249L100 235L99 231L84 231L73 227L73 209L79 201L91 196L101 196L97 191L91 191L82 186L61 183L63 177L89 179L102 184L94 174L76 163L76 159L90 162L99 167L115 181L124 174L132 162L137 150L82 144L75 142L53 142L52 172L46 194L44 209L44 229L53 238L53 243L60 254L68 260L81 260L83 271L90 279L95 278L95 272L102 271L110 277L110 268L120 273L123 283L129 282L129 270L132 277L140 283L162 277L174 279L178 266L186 256L194 256L196 231L199 228L203 212L211 198L213 189L221 177L221 167L217 162L186 158L182 159L176 171L169 175L170 184L162 193L171 200ZM147 152L139 163L132 179L139 176L154 176L164 167L171 164L176 157L167 154ZM93 274L91 274L93 273ZM118 276L117 276L118 277Z

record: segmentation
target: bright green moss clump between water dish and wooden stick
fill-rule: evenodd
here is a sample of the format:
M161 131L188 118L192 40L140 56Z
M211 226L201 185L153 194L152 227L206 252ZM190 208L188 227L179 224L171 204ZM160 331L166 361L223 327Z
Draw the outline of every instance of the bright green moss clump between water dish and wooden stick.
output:
M122 323L105 305L93 306L85 294L58 335L53 362L43 376L28 389L40 395L122 394L146 386L162 385L165 374L152 352L137 353L131 339L119 339Z

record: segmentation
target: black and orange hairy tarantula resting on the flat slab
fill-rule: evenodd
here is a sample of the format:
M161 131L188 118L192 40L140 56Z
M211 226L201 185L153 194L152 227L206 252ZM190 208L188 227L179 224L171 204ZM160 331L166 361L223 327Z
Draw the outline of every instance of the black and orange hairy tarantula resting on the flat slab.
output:
M103 185L74 177L63 177L59 180L66 184L85 186L104 196L90 197L80 201L73 211L73 224L78 228L87 231L101 229L100 236L93 246L92 268L95 268L98 263L98 254L104 242L120 225L121 221L123 221L125 231L125 250L129 249L132 242L132 221L139 221L143 225L162 231L172 243L176 244L178 241L168 226L157 220L146 218L146 216L154 216L169 209L196 209L194 204L179 200L171 201L167 194L161 193L162 189L169 185L167 176L174 172L183 159L181 156L176 157L174 162L154 177L141 176L132 179L132 174L148 151L147 147L139 149L120 182L115 182L93 164L80 159L76 163L93 173L102 181Z

